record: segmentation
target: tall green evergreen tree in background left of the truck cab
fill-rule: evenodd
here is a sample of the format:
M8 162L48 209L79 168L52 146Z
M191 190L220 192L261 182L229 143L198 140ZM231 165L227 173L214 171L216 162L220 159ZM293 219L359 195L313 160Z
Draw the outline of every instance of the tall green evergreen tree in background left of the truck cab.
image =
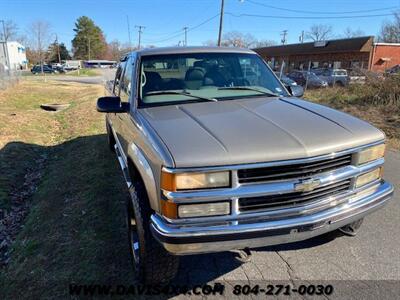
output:
M107 51L103 31L92 19L79 17L75 23L72 47L75 59L102 59Z

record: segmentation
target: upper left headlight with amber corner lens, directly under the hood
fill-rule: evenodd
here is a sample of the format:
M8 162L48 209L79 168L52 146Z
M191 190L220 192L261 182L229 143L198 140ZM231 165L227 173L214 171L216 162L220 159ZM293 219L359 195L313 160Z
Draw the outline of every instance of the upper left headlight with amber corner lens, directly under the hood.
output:
M161 188L167 191L222 188L230 186L230 172L161 173Z

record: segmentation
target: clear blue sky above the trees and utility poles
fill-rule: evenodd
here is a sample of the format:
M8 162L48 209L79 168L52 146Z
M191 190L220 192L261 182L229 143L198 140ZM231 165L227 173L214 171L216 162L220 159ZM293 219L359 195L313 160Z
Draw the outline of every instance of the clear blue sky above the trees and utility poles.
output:
M202 45L217 39L220 5L221 0L0 0L0 20L13 20L24 34L29 24L45 20L68 48L75 20L82 15L94 20L108 42L128 43L130 32L131 44L137 45L135 26L141 25L142 45L177 45L184 40L183 27L188 27L188 45ZM326 24L336 37L348 27L376 35L396 10L400 0L225 0L223 32L279 43L287 30L287 42L296 43L302 30Z

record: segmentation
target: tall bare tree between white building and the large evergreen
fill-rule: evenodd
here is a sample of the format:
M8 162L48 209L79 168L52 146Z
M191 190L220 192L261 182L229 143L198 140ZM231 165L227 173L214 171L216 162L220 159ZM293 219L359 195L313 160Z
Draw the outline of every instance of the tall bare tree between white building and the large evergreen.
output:
M31 37L30 50L36 53L36 62L40 63L43 69L43 61L50 41L50 24L46 21L35 21L29 26L28 32Z

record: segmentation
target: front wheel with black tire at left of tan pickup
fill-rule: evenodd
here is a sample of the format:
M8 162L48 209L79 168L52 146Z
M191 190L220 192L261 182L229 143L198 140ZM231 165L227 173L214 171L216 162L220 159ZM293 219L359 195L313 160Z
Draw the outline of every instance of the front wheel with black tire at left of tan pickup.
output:
M132 264L139 282L166 285L172 280L179 258L169 254L150 232L152 210L143 183L129 188L127 223Z

